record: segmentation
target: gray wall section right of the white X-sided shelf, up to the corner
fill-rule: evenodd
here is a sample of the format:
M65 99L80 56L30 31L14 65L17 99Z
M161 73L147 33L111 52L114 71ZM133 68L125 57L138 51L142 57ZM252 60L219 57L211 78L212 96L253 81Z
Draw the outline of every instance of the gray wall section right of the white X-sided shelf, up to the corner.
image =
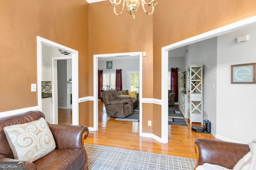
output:
M211 121L212 131L216 132L217 37L187 45L184 61L185 66L203 64L204 119Z

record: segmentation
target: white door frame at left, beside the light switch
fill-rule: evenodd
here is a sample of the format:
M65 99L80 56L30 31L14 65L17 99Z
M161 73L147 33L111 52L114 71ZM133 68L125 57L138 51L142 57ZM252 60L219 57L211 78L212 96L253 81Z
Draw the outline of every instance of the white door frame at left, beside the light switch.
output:
M42 37L37 36L37 89L38 89L38 110L42 111L42 89L41 89L41 82L42 82L42 44L47 45L49 47L53 48L59 48L65 51L68 51L71 53L71 59L72 59L72 124L78 125L79 124L79 117L78 117L78 51L74 49L70 49L68 47L65 47L63 45L60 45L58 43L55 43L53 41L50 41L48 39L44 39ZM68 57L58 57L58 59L67 59ZM57 60L56 60L57 61ZM52 62L54 64L54 62ZM52 73L53 70L56 70L57 67L52 67ZM54 75L52 75L52 82L55 78ZM54 86L55 82L52 83L52 112L51 112L51 120L54 124L58 124L58 110L56 112L56 99L58 101L58 97L55 97L54 94ZM58 109L58 106L57 106Z

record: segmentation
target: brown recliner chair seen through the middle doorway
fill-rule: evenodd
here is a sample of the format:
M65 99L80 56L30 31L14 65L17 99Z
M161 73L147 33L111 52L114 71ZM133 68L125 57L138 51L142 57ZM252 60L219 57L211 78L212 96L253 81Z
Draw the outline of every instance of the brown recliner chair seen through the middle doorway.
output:
M132 99L120 99L116 90L105 90L102 99L107 115L124 118L133 113Z

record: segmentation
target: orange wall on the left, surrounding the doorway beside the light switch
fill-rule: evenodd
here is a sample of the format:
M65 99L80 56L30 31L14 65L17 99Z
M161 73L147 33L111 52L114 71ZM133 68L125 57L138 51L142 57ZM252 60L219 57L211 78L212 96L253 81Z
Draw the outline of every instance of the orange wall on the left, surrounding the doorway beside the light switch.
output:
M79 97L88 96L85 0L2 0L0 22L0 112L38 106L36 36L79 51Z

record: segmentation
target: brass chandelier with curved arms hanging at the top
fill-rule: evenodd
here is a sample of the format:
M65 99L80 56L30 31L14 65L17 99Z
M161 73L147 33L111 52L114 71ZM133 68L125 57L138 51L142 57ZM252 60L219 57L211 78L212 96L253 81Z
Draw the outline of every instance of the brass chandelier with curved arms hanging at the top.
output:
M116 7L118 7L121 4L122 1L124 1L123 2L122 11L118 14L118 13L116 13ZM131 14L132 15L132 19L134 19L135 18L135 14L137 14L138 10L139 10L138 7L140 5L140 0L119 0L119 2L116 2L116 0L114 0L114 2L112 0L110 0L111 5L114 7L114 13L116 15L118 15L118 16L120 14L122 14L122 12L124 10L125 2L126 2L126 6L127 6L126 11L128 12L128 14ZM153 14L154 7L156 7L157 2L154 1L154 0L151 0L151 2L146 3L145 0L141 0L141 4L142 4L143 10L144 10L144 12L146 14ZM148 5L149 7L151 7L152 11L151 12L146 12L144 5Z

